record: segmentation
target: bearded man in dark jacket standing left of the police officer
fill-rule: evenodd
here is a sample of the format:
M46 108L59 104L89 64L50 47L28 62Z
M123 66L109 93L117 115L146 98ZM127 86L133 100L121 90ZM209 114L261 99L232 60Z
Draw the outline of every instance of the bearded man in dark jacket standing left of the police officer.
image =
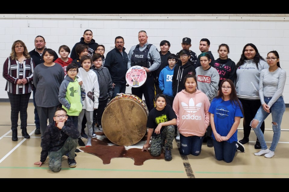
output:
M107 67L112 79L114 98L117 93L126 92L126 71L127 63L129 61L127 53L124 48L124 39L118 36L114 39L115 47L107 53L104 67Z

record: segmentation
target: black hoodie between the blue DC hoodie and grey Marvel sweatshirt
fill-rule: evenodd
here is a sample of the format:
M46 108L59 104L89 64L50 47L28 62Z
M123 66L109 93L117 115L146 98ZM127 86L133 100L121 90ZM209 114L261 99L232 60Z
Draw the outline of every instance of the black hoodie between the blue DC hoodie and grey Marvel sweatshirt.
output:
M172 76L172 90L174 96L185 89L184 79L189 72L196 74L195 67L191 62L187 62L184 65L176 64L174 75Z

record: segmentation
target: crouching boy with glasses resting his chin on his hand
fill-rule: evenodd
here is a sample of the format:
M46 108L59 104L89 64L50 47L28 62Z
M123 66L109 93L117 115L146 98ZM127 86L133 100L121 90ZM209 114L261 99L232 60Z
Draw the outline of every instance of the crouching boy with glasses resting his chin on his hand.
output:
M79 132L72 121L67 121L67 113L63 108L56 110L53 120L44 133L40 161L35 162L34 165L40 167L49 156L49 169L58 172L61 170L62 156L68 153L69 167L76 167L74 152Z

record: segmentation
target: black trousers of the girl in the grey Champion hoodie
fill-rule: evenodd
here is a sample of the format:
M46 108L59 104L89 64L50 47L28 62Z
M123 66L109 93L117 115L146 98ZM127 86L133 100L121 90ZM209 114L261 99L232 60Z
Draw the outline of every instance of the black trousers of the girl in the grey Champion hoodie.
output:
M243 105L244 110L244 120L245 123L243 124L244 128L244 138L249 138L251 132L250 123L254 119L259 107L261 106L261 101L258 100L248 100L248 99L241 99L239 98ZM263 122L261 125L261 131L264 133L265 130L265 123Z

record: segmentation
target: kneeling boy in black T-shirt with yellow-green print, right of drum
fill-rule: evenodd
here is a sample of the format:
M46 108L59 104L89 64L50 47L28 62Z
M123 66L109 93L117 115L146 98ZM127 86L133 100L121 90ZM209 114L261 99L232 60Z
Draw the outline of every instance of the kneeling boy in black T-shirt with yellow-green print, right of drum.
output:
M172 141L175 136L176 114L170 105L166 105L166 96L158 94L155 98L156 107L148 114L148 139L142 151L147 150L151 140L151 155L159 156L165 146L165 160L172 160ZM165 143L166 140L166 143Z

